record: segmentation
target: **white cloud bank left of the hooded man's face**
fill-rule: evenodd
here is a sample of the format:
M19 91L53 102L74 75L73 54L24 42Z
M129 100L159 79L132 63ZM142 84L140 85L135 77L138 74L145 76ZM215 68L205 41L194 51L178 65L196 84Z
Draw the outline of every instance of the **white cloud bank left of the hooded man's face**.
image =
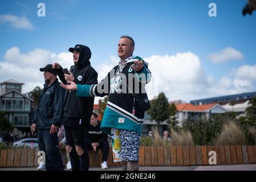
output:
M35 86L43 87L43 72L39 68L47 64L58 62L63 68L73 65L72 53L54 53L46 49L34 49L27 53L21 53L18 47L11 47L0 62L0 81L10 78L24 82L22 93L30 92Z

